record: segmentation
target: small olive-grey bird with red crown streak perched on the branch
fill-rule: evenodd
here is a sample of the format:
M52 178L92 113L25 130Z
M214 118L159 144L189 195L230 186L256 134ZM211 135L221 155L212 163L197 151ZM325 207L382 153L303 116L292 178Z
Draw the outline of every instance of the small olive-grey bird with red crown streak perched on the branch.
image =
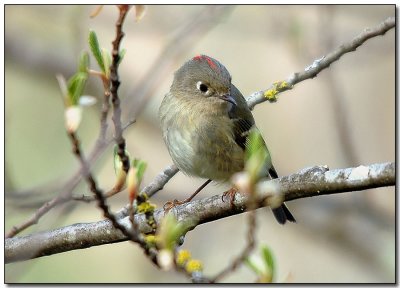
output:
M257 127L245 98L219 61L198 55L183 64L159 116L169 154L183 173L226 182L243 170L247 136ZM267 154L263 177L278 178ZM296 222L284 203L272 211L280 224Z

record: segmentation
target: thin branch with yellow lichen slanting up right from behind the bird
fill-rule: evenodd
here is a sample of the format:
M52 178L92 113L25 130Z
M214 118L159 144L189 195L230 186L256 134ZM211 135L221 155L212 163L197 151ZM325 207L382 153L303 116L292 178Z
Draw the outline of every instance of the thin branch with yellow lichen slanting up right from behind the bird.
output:
M311 65L306 67L304 71L293 73L285 81L279 81L273 84L267 90L262 90L251 94L247 98L247 104L250 109L254 106L265 101L275 102L276 95L284 91L290 90L297 83L306 79L312 79L317 76L322 70L328 68L332 63L338 61L344 54L355 51L365 41L370 38L384 35L387 31L396 26L396 20L394 17L389 17L378 26L374 28L367 28L361 32L358 36L353 38L351 41L340 45L336 50L332 51L326 56L315 60Z

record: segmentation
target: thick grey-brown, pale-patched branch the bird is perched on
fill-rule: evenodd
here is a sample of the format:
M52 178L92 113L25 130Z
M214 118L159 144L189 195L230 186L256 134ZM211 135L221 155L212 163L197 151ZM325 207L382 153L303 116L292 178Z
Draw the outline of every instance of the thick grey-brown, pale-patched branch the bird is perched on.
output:
M267 199L262 203L262 206L267 206L269 205L268 200L276 194L281 195L282 200L290 201L299 198L394 186L395 184L394 162L332 171L329 171L326 166L316 166L279 179L259 183L257 195L259 199ZM271 191L271 186L275 188L275 191ZM224 202L221 195L215 195L176 206L171 212L176 215L178 221L192 220L197 223L196 226L243 213L247 200L246 195L239 193L236 194L232 202ZM164 217L164 210L157 209L154 213L155 221L159 223L162 217ZM119 219L118 222L126 226L127 229L131 229L128 218ZM141 232L152 231L152 228L147 224L145 215L135 215L135 222ZM116 229L109 220L74 224L25 237L5 239L5 262L33 259L124 240L127 240L127 237Z

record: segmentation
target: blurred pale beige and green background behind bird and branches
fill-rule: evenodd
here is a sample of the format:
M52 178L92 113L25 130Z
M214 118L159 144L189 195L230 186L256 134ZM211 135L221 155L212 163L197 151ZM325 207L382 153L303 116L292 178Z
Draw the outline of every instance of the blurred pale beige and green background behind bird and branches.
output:
M79 165L64 129L63 103L55 78L70 77L89 29L111 50L118 11L105 6L5 6L5 230L28 219L65 189ZM158 107L173 72L202 53L220 60L243 95L302 71L395 6L148 6L135 21L130 11L120 66L127 148L148 163L143 185L172 161L158 124ZM93 59L92 59L93 60ZM92 67L97 69L95 61ZM102 84L90 79L86 94L99 99L85 108L78 130L88 154L97 139ZM316 78L299 83L277 103L256 106L254 116L279 175L314 165L330 169L395 161L395 31L344 55ZM112 132L112 126L110 126ZM95 162L100 187L114 183L112 145ZM161 207L184 199L204 180L178 173L154 196ZM222 193L210 185L200 196ZM90 194L81 183L77 195ZM114 211L127 203L120 193ZM300 199L288 203L298 223L281 226L268 209L257 211L258 244L275 256L278 282L394 282L395 188ZM102 219L95 203L68 203L51 210L20 235ZM214 275L246 243L246 214L198 226L184 248ZM229 239L229 241L227 241ZM257 254L258 250L255 251ZM245 266L224 282L252 282ZM187 282L163 272L140 248L123 242L7 264L8 283Z

